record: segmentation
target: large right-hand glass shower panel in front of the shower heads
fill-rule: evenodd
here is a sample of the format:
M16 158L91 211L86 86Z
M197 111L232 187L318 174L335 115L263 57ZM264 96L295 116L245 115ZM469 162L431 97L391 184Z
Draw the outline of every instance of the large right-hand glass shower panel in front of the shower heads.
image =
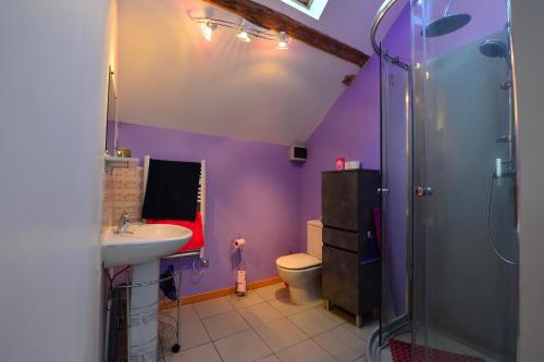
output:
M503 1L456 1L455 14L469 16L461 25L449 5L412 2L412 357L510 362L518 240L508 12Z

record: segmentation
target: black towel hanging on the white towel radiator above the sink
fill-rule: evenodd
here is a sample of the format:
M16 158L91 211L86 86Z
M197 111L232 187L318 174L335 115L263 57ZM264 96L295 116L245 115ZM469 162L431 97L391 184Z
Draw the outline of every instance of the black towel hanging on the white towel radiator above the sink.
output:
M150 160L141 217L194 221L199 178L200 163Z

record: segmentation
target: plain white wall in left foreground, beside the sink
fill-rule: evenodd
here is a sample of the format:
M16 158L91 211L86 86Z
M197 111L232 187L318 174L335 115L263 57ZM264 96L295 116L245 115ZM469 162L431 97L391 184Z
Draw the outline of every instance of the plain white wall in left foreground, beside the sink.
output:
M0 3L0 360L99 350L109 0Z

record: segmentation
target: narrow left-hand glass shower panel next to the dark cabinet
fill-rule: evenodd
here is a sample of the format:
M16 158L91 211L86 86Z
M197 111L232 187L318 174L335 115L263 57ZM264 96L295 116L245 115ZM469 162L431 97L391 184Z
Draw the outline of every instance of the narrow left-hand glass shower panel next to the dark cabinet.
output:
M409 321L410 135L409 71L381 57L381 309L380 344Z

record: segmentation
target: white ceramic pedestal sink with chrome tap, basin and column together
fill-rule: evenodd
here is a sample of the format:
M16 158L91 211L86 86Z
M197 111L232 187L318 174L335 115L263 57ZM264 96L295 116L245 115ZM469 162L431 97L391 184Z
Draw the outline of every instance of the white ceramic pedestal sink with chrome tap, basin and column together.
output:
M187 244L188 228L175 225L129 225L127 233L110 227L102 234L103 266L134 265L129 289L129 361L157 361L160 258ZM138 286L141 285L141 286Z

